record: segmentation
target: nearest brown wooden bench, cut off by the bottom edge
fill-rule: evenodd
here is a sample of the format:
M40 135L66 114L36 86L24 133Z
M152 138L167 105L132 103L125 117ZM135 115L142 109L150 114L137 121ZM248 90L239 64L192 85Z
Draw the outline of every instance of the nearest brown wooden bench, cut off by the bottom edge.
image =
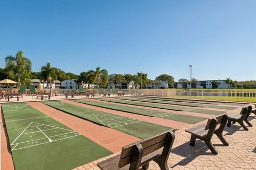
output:
M149 162L155 161L161 170L169 169L167 159L174 141L174 131L166 131L148 139L141 140L122 148L121 154L97 164L102 170L148 169Z

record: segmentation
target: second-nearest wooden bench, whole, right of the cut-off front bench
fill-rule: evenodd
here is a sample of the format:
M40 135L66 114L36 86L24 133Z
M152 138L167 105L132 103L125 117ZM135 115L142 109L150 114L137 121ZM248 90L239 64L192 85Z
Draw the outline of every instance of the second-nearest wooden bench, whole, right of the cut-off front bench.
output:
M229 143L227 142L227 140L224 138L222 134L227 121L228 121L228 116L226 114L222 114L218 117L208 119L206 124L202 124L202 125L187 129L186 132L191 133L189 145L194 146L196 139L201 139L205 142L205 144L212 151L212 153L217 155L218 151L215 149L215 147L211 142L212 136L213 134L216 134L219 137L220 141L224 145L228 146ZM220 126L217 127L217 125L219 124Z

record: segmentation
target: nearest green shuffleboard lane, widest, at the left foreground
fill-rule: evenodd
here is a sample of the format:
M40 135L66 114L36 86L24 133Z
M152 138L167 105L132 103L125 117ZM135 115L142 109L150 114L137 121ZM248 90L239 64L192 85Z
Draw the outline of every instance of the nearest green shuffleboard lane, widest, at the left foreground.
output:
M2 110L16 170L70 170L111 154L26 103Z

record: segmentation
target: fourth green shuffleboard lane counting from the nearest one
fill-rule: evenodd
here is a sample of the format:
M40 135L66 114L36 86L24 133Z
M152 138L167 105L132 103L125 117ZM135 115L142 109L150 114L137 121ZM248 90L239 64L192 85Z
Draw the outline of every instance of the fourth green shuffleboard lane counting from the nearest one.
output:
M143 103L143 102L139 102L139 101L117 100L115 98L98 98L97 100L114 102L114 103L132 104L132 105L137 105L137 106L146 106L146 107L160 108L160 109L190 111L190 112L196 112L199 114L221 115L221 114L226 113L225 111L206 110L206 109L198 109L198 108L185 108L185 107L177 107L177 106L157 104L157 103L156 104L155 103Z

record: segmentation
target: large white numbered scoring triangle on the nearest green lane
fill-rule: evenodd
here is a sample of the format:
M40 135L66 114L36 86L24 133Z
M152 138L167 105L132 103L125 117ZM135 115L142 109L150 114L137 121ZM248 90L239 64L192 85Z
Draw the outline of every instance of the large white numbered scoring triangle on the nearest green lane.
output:
M30 126L32 125L32 126ZM38 126L50 126L50 127L53 127L51 129L45 129L45 130L41 130ZM19 139L19 137L21 135L25 135L25 134L30 134L30 133L24 133L26 131L26 129L30 128L30 127L37 127L39 131L36 131L36 132L31 132L31 133L42 133L45 137L43 138L40 138L40 139L35 139L35 140L29 140L29 141L23 141L23 142L18 142L18 143L15 143L15 141L17 141ZM50 131L52 129L63 129L65 131L68 131L67 133L62 133L62 134L58 134L58 135L52 135L52 136L47 136L44 131ZM75 134L74 136L65 136L67 134ZM50 137L54 137L54 136L60 136L60 135L64 135L65 137L62 138L62 139L57 139L57 140L52 140ZM19 150L19 149L23 149L23 148L29 148L29 147L33 147L35 145L40 145L40 144L45 144L45 143L50 143L50 142L55 142L55 141L59 141L59 140L63 140L63 139L68 139L70 137L75 137L75 136L79 136L81 134L73 131L73 130L70 130L70 129L65 129L65 128L61 128L61 127L55 127L55 126L51 126L51 125L45 125L45 124L41 124L41 123L36 123L36 122L31 122L20 134L19 136L11 143L11 145L15 145L13 148L12 148L12 151L14 150ZM62 137L62 136L61 136ZM49 141L48 142L43 142L43 143L38 143L38 140L42 140L42 139L48 139ZM21 147L21 148L17 148L15 149L19 144L21 143L27 143L27 142L31 142L33 143L33 145L29 145L29 146L25 146L25 147ZM30 143L29 143L30 144Z

